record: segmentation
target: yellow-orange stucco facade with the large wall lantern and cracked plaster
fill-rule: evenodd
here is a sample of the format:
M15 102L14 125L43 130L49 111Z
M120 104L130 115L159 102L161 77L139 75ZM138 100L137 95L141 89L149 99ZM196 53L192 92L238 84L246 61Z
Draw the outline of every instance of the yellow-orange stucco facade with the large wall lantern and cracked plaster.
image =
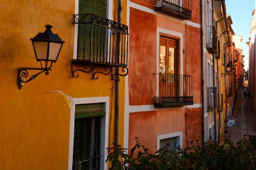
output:
M4 0L1 2L0 26L0 169L68 169L70 113L73 98L109 97L109 146L114 142L115 88L111 93L110 75L79 72L72 78L74 50L73 24L75 2ZM114 5L114 4L113 4ZM115 8L113 8L115 9ZM117 19L116 19L117 20ZM126 24L126 1L123 0L122 23ZM40 67L29 39L44 25L51 24L66 43L49 75L44 73L21 90L17 86L20 67ZM83 66L76 66L83 68ZM102 71L102 67L97 70ZM95 71L97 71L95 70ZM30 71L29 76L36 74ZM119 144L124 143L124 81L120 77ZM113 102L111 102L111 99ZM111 105L112 103L112 105ZM110 109L112 108L112 109ZM111 117L110 117L111 115ZM111 119L111 121L110 121ZM110 124L111 122L111 124Z

